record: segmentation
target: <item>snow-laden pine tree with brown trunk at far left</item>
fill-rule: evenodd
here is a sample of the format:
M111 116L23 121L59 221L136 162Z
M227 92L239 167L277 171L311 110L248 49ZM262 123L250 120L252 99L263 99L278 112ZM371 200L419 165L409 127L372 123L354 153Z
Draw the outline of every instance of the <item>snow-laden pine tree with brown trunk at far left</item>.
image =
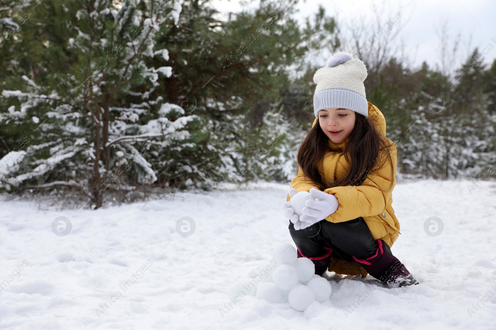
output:
M31 17L47 28L47 73L43 81L23 75L23 90L2 92L12 105L1 120L40 123L37 142L7 154L0 178L8 190L77 187L100 207L102 191L127 189L122 176L155 182L149 153L185 143L188 124L197 120L153 94L171 67L145 60L167 58L167 49L155 49L154 36L181 7L172 1L69 2L45 1L45 10Z

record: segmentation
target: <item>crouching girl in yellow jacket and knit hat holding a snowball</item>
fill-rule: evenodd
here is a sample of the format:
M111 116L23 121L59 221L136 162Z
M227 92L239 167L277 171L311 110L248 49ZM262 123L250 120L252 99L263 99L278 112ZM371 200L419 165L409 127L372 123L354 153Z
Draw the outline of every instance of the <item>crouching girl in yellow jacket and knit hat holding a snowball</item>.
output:
M285 202L298 257L315 274L371 274L389 287L418 284L391 253L400 226L392 204L397 151L383 114L365 97L365 64L346 52L313 76L315 120L298 151L298 175L287 201L309 191L298 216ZM318 125L317 125L318 121Z

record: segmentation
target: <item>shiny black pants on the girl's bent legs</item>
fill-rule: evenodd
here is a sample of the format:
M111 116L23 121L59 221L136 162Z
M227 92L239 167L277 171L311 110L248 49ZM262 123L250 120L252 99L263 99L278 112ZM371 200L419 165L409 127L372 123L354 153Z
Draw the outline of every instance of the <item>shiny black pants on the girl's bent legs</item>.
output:
M366 259L379 247L362 217L338 223L322 220L301 230L295 230L290 222L289 232L306 257L322 256L325 246L332 248L332 256L355 261L352 256Z

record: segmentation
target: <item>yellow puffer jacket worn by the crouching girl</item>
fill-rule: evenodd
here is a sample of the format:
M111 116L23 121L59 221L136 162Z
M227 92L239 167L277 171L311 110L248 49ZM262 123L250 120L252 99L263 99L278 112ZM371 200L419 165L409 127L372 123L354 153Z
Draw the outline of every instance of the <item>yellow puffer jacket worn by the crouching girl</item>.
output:
M384 115L372 103L368 102L368 105L369 116L377 119L375 129L385 136L386 121ZM316 124L318 125L318 118L315 118L312 127ZM328 140L327 144L334 151L327 151L325 153L317 169L325 183L334 182L334 180L341 178L349 170L349 164L343 153L345 143L346 141L334 143L330 139ZM392 190L396 185L397 150L396 145L392 141L389 147L393 161L392 178L389 156L385 150L381 150L377 158L381 160L382 157L386 157L385 165L381 169L369 173L359 186L334 187L325 189L324 191L335 195L339 202L336 212L329 215L325 220L336 223L363 217L373 238L381 238L389 246L392 246L401 233L400 225L391 206L393 202ZM391 181L393 183L392 186ZM319 189L310 178L304 175L302 169L298 167L298 175L291 181L291 188L295 188L298 191L310 192L312 187ZM389 190L381 191L380 189ZM290 196L288 194L287 201L289 200ZM331 258L329 263L329 272L345 275L361 275L363 278L368 274L356 262L343 261L334 257Z

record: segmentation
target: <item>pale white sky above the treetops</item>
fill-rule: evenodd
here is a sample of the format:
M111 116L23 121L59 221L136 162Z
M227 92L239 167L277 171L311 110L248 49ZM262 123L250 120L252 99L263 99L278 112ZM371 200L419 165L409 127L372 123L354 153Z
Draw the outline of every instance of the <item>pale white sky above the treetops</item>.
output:
M372 3L387 13L385 20L394 12L401 13L402 30L395 41L403 42L406 55L415 66L423 61L431 67L440 64L440 39L436 31L440 31L444 22L450 40L461 34L458 62L464 61L474 47L482 52L488 44L495 49L485 56L484 63L490 64L496 58L495 0L301 0L296 5L295 17L303 22L322 4L327 15L335 17L338 23L353 24L352 21L360 22L364 15L373 18ZM223 14L242 8L240 0L213 0L211 4Z

